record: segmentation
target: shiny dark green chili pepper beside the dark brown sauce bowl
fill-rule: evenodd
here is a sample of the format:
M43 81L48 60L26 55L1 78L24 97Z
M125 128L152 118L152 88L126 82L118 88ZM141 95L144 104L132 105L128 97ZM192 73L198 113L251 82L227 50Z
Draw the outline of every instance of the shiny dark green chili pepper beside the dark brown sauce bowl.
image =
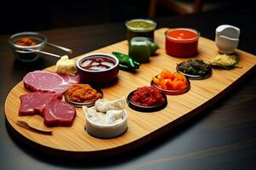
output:
M137 61L132 59L130 55L121 54L119 52L113 52L112 54L114 54L119 59L119 65L126 65L127 67L129 67L130 71L138 69L141 65ZM122 69L122 67L120 68Z

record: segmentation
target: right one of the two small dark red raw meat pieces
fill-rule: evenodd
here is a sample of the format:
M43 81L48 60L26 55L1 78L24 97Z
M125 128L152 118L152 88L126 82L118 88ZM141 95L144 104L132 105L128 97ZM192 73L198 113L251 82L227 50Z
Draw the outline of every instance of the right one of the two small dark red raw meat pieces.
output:
M44 124L48 127L63 126L70 127L76 116L76 109L73 105L51 98L43 110Z

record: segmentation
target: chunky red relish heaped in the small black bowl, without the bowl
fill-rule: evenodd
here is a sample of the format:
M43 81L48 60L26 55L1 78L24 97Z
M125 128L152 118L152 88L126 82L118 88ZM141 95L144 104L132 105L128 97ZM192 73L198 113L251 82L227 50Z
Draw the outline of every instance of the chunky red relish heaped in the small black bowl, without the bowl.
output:
M154 87L137 88L131 96L131 102L140 106L161 105L165 102L160 89Z

